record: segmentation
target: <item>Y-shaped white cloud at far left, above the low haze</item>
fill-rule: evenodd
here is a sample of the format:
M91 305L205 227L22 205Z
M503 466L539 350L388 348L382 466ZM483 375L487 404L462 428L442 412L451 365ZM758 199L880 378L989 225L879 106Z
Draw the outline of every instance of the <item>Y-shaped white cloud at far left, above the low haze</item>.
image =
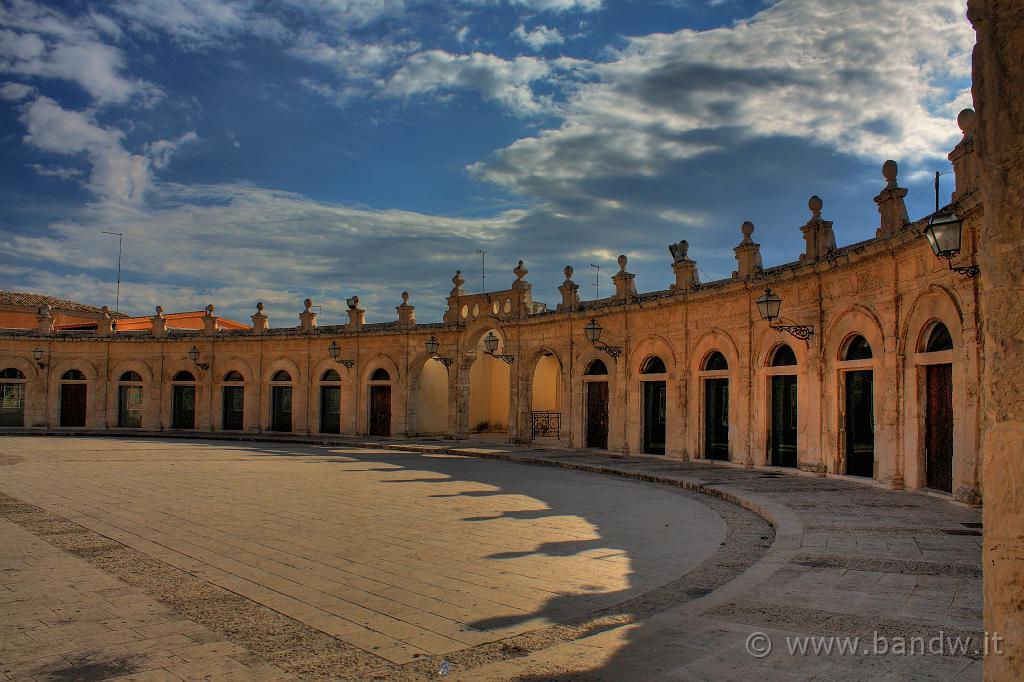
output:
M198 136L188 132L176 140L157 140L145 153L131 154L122 145L124 133L100 126L85 112L68 111L49 97L37 97L22 114L25 141L44 152L86 155L92 165L89 187L114 202L140 203L150 188L153 169L166 167L171 156Z

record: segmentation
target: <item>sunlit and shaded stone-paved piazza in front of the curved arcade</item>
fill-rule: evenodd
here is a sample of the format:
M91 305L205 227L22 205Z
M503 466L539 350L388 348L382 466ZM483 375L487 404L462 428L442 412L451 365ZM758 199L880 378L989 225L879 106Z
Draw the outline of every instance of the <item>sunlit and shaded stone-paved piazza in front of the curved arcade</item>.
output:
M780 652L979 636L977 509L770 469L459 452L2 437L0 679L980 679L980 655ZM755 632L766 657L744 650Z

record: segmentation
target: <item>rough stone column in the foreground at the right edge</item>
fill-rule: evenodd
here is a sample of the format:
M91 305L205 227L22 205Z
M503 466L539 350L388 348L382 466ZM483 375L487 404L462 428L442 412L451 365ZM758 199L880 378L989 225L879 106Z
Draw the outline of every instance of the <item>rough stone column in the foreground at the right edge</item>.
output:
M970 0L985 207L978 244L984 322L982 484L985 630L1004 653L985 680L1024 679L1024 4Z

